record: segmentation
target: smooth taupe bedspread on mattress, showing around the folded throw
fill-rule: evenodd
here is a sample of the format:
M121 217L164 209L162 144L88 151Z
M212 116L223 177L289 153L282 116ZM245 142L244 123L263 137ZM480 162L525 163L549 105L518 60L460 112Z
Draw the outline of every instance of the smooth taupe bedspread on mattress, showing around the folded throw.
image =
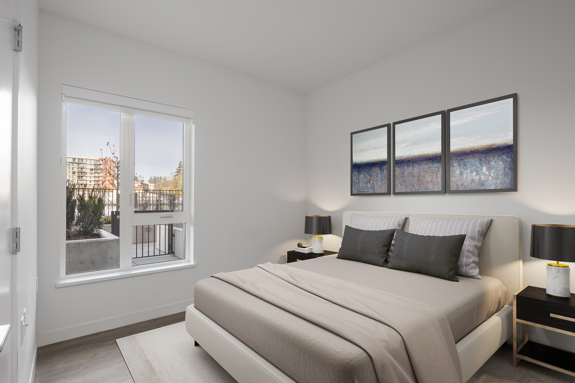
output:
M286 267L315 271L431 305L446 315L456 342L505 302L503 284L491 277L459 277L459 282L451 282L337 259L335 255ZM378 383L371 357L363 348L221 279L198 281L194 305L298 383ZM393 332L385 327L382 334ZM388 342L386 348L391 354L407 355L402 342Z

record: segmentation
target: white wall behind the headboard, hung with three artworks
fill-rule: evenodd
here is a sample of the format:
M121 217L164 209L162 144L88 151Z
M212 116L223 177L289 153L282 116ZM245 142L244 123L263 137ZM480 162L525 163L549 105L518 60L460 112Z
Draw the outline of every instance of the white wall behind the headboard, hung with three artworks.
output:
M516 215L523 284L545 287L530 225L575 223L574 20L573 1L514 2L309 94L306 213L333 216L325 248L338 250L345 210ZM350 132L515 92L516 193L350 196ZM573 337L534 333L575 351Z

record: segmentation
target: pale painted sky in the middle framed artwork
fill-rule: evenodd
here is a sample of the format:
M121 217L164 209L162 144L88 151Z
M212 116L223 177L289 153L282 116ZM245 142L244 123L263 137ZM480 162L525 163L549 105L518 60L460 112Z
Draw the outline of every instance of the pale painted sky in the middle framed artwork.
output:
M441 153L441 115L395 126L396 158Z

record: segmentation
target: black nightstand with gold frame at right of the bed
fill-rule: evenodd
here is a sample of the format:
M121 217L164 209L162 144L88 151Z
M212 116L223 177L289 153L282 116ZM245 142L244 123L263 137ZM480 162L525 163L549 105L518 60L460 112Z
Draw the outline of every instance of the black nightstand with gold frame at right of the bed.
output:
M521 341L518 324L524 327ZM545 289L533 286L513 294L513 367L524 359L575 376L575 353L529 340L529 326L575 336L575 294L555 298L547 295Z

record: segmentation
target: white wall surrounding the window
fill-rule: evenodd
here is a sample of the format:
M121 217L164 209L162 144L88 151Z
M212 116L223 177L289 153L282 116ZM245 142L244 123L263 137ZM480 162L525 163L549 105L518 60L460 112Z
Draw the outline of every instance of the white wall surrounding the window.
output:
M197 267L55 288L62 84L196 111ZM277 85L40 13L40 345L183 311L199 279L285 259L302 240L305 185L294 181L305 177L305 102Z

